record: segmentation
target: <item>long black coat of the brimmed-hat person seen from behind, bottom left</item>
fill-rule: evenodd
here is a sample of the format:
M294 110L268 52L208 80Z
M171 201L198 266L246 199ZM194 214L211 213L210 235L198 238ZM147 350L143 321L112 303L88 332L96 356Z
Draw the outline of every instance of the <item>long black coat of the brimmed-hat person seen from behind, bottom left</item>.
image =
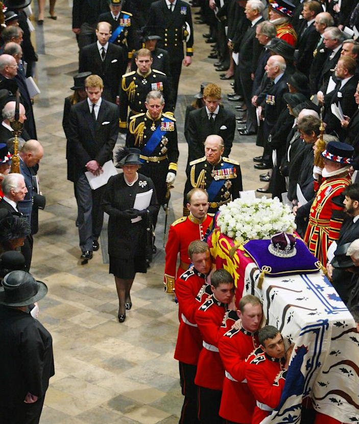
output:
M50 377L55 374L52 337L29 313L0 306L0 422L38 423ZM26 404L28 393L38 396Z

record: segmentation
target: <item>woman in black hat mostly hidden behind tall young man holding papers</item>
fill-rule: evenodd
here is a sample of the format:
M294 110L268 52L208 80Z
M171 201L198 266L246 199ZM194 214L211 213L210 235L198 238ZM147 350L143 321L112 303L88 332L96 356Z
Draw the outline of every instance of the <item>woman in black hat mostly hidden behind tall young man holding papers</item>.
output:
M74 76L74 86L71 87L71 90L74 91L73 94L65 98L65 104L63 108L63 117L62 117L62 128L66 136L66 159L67 159L67 180L74 182L74 154L70 151L68 143L68 127L69 127L69 117L71 106L85 100L87 94L85 91L85 79L91 75L91 72L81 72Z

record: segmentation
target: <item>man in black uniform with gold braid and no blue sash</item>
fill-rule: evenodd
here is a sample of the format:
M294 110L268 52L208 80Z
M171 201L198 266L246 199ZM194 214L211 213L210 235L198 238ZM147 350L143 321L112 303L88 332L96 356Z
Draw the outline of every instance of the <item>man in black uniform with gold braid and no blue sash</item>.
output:
M148 49L140 49L135 59L137 71L122 76L119 92L119 131L127 132L127 109L133 115L146 112L146 96L152 90L162 92L165 105L164 111L173 115L173 97L167 77L163 72L151 68L152 56Z

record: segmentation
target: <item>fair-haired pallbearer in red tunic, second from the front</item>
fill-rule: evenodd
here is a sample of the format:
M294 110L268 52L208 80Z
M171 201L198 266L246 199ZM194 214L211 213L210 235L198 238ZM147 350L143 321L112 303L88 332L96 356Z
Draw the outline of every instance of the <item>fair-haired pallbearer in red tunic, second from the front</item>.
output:
M262 321L262 305L252 295L238 304L238 321L220 339L218 348L225 369L220 416L227 421L250 424L255 399L246 380L248 355L259 347L258 327Z

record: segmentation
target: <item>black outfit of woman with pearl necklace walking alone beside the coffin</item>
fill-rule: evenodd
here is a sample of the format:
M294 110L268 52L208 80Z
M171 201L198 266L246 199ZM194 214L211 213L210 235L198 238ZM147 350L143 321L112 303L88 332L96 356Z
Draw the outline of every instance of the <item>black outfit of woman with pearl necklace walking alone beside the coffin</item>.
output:
M138 180L129 186L124 174L111 176L102 199L102 207L109 214L108 253L110 274L124 279L133 279L137 272L146 273L146 219L131 222L123 212L133 208L136 194L153 189L150 217L159 209L155 187L151 178L138 174Z

